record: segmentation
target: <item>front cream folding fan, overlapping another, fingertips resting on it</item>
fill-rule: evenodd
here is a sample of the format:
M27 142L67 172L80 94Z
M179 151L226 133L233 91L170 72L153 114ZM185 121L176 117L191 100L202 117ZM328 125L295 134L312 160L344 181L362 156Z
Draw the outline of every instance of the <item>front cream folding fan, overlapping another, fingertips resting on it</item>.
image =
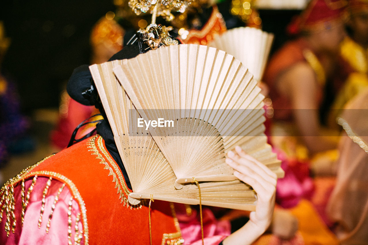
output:
M263 134L263 96L233 56L202 45L169 46L113 71L142 118L174 121L148 130L177 183L236 180L224 157L236 145L283 176Z

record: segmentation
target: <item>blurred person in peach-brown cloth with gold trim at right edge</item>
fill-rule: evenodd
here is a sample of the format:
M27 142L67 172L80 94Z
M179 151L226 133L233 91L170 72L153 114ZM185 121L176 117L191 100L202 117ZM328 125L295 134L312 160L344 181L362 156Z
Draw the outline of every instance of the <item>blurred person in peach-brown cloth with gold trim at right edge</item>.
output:
M347 103L337 121L344 132L339 143L336 186L327 213L341 244L367 244L368 89Z

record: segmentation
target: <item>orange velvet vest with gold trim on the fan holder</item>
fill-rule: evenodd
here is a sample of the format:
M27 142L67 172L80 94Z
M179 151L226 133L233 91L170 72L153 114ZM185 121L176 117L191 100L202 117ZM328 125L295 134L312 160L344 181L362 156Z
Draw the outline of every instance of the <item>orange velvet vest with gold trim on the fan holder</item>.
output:
M148 202L131 206L120 168L101 136L93 136L22 171L14 185L34 175L64 182L78 202L85 244L150 244ZM152 244L182 244L169 202L151 205Z

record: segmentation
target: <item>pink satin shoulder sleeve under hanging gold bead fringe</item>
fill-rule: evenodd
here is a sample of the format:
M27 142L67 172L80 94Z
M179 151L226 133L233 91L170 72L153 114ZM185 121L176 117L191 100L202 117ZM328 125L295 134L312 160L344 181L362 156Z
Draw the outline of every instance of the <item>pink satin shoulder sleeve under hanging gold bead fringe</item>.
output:
M1 244L53 244L61 245L68 244L69 241L72 244L76 244L78 235L82 232L82 222L79 219L76 226L75 222L77 216L80 216L80 210L78 203L73 199L71 201L71 236L68 234L68 210L69 202L71 199L71 193L69 189L64 186L63 183L58 180L52 180L47 194L45 197L45 208L42 215L42 221L39 227L40 213L42 208L43 192L45 191L46 183L49 180L48 177L38 177L33 191L31 192L28 206L25 209L23 226L21 223L22 213L22 199L21 199L21 183L18 183L14 187L14 199L15 199L15 218L16 226L14 233L10 231L9 236L5 232L6 213L3 213L3 219L0 223L0 239ZM25 181L25 196L31 186L32 178ZM59 193L59 200L55 202L56 196ZM55 203L55 205L54 205ZM52 206L54 205L53 214L50 219L49 232L46 232L47 223L49 222L50 213L52 212ZM5 217L4 217L5 216ZM77 231L77 236L75 236ZM79 239L82 238L79 235ZM68 238L68 236L70 238ZM79 240L80 244L84 244L84 240Z

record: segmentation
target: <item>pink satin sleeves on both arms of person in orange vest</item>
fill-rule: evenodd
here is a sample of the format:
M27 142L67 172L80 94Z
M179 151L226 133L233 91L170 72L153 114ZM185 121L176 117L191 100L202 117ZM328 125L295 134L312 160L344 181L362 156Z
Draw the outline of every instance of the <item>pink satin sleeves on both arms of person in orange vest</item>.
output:
M49 215L55 200L55 196L57 195L59 188L63 185L63 183L58 180L51 181L51 185L46 195L45 211L42 216L42 223L40 228L38 228L38 220L42 206L42 195L48 179L49 178L47 177L37 178L25 212L23 227L21 227L21 183L14 187L14 213L17 224L15 232L10 232L10 235L7 236L5 232L6 214L4 212L3 220L0 223L1 244L68 244L68 202L70 200L71 193L67 187L64 187L63 191L59 195L59 201L55 205L53 216L50 222L49 232L46 233L47 221L49 220ZM31 183L32 178L25 181L25 195L31 186ZM176 203L175 205L177 218L179 220L185 244L202 244L201 221L197 210L192 209L192 214L188 216L185 212L184 205L179 203ZM71 214L72 244L74 244L75 220L78 213L80 213L78 203L73 200ZM212 211L208 208L203 209L202 216L204 224L204 242L206 245L217 245L224 238L230 235L231 229L229 221L217 221ZM82 230L81 219L78 222L78 228L80 231ZM84 245L83 239L81 244Z

